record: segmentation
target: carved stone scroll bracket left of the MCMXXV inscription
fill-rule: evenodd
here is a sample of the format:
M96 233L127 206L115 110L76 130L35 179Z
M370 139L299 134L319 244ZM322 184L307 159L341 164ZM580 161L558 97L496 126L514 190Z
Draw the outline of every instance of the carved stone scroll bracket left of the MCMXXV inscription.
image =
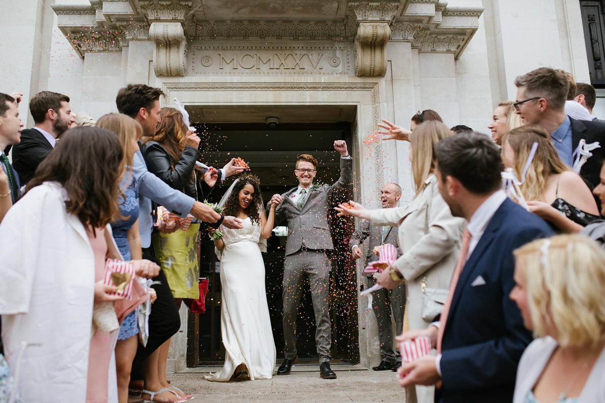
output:
M154 41L156 76L185 76L187 38L180 22L152 22L149 39Z

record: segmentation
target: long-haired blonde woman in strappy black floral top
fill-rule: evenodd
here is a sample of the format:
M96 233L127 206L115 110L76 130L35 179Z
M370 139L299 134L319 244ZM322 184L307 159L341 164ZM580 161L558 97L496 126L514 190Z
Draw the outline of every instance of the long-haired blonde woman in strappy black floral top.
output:
M535 156L525 178L523 170L534 143ZM529 211L558 232L578 233L599 218L599 210L583 179L563 164L541 126L522 126L503 137L502 161L514 170Z

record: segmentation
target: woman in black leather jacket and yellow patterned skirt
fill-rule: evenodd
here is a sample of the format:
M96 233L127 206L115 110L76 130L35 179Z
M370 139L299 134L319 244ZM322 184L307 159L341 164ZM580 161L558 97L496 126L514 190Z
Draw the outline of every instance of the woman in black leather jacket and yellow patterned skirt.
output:
M214 168L204 173L195 166L195 161L200 156L199 145L200 138L185 125L181 112L174 108L162 108L155 135L143 143L141 152L149 172L173 189L180 190L197 201L204 201L212 191L218 175ZM186 230L154 233L152 242L177 308L180 308L183 298L199 298L197 245L200 242L200 221L192 221ZM170 340L160 347L159 382L163 388L176 390L168 384L165 376L169 347ZM180 390L176 392L181 398L191 397Z

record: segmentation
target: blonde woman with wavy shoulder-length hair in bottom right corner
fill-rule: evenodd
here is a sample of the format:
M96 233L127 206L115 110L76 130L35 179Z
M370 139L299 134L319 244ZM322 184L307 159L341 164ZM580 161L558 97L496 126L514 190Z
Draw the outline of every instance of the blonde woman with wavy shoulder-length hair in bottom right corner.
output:
M605 253L574 234L514 255L511 299L538 338L519 363L513 402L605 402Z

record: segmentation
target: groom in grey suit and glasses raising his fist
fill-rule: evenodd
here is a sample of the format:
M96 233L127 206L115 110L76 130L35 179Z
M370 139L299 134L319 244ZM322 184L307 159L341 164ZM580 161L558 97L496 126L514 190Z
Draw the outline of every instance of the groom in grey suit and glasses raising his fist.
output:
M330 260L328 251L333 250L332 235L327 221L329 197L336 188L346 189L352 182L353 160L348 155L347 143L334 142L334 149L341 155L341 176L333 185L314 185L317 160L302 154L296 160L294 174L298 187L281 196L273 196L269 205L280 203L275 210L275 225L284 220L288 225L286 260L284 261L284 363L277 375L288 375L296 363L296 315L300 303L302 281L309 277L313 311L315 311L315 341L319 355L319 376L336 379L330 369L330 316L328 310Z

